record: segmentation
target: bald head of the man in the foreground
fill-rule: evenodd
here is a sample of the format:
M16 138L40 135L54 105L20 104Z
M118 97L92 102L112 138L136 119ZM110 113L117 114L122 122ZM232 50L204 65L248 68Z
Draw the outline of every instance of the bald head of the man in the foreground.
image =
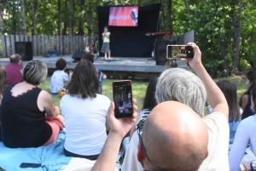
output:
M145 121L142 137L151 162L140 158L140 145L138 160L147 170L197 170L207 157L207 126L195 111L179 102L157 105Z

